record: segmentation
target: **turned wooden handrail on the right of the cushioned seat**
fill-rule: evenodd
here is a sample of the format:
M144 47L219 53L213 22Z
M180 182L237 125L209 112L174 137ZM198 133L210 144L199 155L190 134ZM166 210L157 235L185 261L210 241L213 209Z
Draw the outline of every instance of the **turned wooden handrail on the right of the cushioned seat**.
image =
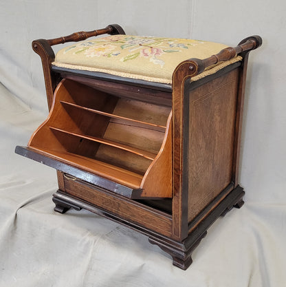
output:
M242 54L243 52L248 52L250 50L256 49L257 47L261 46L261 44L262 39L260 36L250 36L243 39L243 41L241 41L236 47L226 47L218 54L212 55L206 59L189 59L188 61L191 62L189 69L192 72L192 76L197 76L197 74L200 74L206 70L206 68L210 67L210 65L214 65L223 61L229 61L237 55Z

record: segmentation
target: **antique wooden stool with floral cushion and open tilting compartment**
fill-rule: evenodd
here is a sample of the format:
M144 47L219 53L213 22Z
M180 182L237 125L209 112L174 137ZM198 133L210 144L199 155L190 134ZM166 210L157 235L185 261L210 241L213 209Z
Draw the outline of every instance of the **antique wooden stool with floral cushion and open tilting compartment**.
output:
M50 114L16 153L57 170L55 211L129 226L186 269L212 222L243 204L246 68L261 43L128 36L116 24L33 41Z

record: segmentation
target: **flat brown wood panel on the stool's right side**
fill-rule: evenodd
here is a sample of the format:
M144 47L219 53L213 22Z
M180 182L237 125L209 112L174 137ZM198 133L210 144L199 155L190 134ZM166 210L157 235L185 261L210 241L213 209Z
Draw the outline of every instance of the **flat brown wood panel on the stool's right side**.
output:
M188 222L232 178L239 70L190 91Z

